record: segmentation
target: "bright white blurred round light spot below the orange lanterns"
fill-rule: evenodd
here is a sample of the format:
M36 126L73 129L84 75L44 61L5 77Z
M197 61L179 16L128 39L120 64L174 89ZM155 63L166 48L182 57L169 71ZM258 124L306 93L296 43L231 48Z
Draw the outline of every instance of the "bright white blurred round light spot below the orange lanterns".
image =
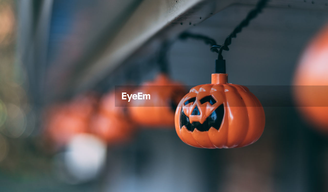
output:
M97 177L105 165L105 159L106 144L87 133L75 135L64 154L67 171L78 183Z

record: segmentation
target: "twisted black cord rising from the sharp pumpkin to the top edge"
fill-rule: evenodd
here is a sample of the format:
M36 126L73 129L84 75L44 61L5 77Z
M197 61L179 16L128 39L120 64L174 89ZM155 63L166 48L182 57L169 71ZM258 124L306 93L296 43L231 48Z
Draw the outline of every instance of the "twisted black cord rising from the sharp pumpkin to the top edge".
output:
M251 10L246 16L246 18L238 26L236 26L236 28L230 33L230 35L228 35L228 37L224 41L224 44L222 44L221 46L213 45L211 47L211 51L215 51L216 53L218 53L218 60L223 60L222 50L229 51L228 46L231 45L231 39L236 38L236 34L241 32L242 28L248 26L249 22L254 19L258 15L258 13L262 11L267 2L268 0L260 0L256 4L255 9Z

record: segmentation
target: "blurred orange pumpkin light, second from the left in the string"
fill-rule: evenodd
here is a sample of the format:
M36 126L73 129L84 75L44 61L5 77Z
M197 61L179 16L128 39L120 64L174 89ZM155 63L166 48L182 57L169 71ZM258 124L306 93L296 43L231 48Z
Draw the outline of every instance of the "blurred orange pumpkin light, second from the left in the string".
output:
M122 100L117 99L117 102ZM126 106L120 103L116 105L114 92L104 95L91 123L91 132L110 144L129 140L135 131L133 122L126 114Z

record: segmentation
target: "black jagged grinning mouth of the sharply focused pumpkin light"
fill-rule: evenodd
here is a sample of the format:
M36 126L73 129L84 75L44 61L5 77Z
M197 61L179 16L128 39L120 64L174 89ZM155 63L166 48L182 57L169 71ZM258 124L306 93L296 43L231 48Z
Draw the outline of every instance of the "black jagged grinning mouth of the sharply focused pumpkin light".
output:
M198 109L198 108L197 108ZM180 129L185 126L187 130L194 131L197 129L198 131L208 131L211 127L219 130L222 124L224 116L224 107L223 104L218 106L207 118L203 123L198 121L194 121L190 123L189 117L183 112L181 108L180 112Z

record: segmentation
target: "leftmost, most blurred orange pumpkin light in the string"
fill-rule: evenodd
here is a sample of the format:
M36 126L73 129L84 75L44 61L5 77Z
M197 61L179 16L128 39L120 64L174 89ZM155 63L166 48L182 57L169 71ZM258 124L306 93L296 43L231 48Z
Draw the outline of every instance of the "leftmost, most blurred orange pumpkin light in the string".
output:
M75 134L87 132L96 103L94 96L83 95L68 103L49 107L45 117L47 137L61 147L66 145Z

